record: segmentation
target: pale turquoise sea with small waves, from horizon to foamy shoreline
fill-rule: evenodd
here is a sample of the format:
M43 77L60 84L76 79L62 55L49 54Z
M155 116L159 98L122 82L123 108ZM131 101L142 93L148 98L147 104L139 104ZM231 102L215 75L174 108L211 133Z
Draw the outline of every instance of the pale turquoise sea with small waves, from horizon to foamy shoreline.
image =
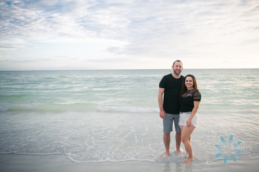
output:
M169 73L0 71L0 153L66 154L75 162L182 162L184 145L176 155L174 132L171 155L161 158L157 93ZM183 69L181 74L194 75L202 95L191 139L194 163L214 161L219 151L231 157L240 141L242 154L236 158L258 155L259 69ZM231 135L232 142L221 142L220 136L228 142ZM205 150L213 144L223 149Z

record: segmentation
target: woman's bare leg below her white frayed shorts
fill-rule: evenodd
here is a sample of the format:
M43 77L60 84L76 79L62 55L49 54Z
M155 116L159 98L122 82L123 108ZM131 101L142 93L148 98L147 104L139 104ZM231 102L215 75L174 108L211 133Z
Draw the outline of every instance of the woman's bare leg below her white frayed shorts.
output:
M191 134L193 133L193 130L195 129L195 126L191 125L190 128L187 126L182 126L181 130L181 140L184 144L185 151L188 153L188 157L184 160L184 163L189 163L193 161L193 149L191 144Z

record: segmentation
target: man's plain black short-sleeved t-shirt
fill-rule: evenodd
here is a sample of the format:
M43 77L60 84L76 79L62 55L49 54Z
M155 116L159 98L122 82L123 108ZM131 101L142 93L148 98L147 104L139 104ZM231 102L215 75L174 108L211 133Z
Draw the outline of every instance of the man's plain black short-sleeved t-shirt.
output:
M176 79L170 73L165 75L160 83L159 87L164 88L164 100L163 108L167 114L179 114L179 97L180 89L182 88L182 83L184 81L184 76L181 75L180 78Z

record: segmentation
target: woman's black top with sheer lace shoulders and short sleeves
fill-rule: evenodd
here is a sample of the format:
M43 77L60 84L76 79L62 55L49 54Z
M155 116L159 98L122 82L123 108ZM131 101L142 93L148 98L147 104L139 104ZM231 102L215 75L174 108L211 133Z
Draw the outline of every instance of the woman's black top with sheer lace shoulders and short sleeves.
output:
M193 101L201 101L201 93L196 89L186 90L179 98L180 112L192 112Z

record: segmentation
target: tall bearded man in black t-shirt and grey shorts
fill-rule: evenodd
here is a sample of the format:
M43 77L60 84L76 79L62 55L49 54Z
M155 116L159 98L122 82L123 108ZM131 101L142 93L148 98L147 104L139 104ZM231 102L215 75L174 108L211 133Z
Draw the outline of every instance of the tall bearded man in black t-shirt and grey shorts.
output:
M178 125L179 122L179 102L180 89L184 77L180 75L182 71L182 62L176 60L172 66L173 73L165 75L159 83L158 91L158 104L159 104L159 115L163 119L163 139L165 144L165 155L163 158L170 154L170 132L173 131L173 121L175 127L175 140L176 140L176 151L180 155L180 144L181 144L181 130ZM164 94L164 100L163 100Z

